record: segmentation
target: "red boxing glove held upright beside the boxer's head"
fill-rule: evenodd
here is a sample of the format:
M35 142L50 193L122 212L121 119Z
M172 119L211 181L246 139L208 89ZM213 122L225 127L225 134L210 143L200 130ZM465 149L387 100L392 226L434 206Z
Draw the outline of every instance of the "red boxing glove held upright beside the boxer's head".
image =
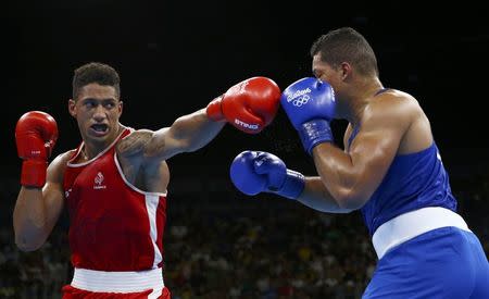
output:
M46 184L48 158L58 139L54 119L41 111L30 111L18 119L15 141L22 163L21 184L41 188Z

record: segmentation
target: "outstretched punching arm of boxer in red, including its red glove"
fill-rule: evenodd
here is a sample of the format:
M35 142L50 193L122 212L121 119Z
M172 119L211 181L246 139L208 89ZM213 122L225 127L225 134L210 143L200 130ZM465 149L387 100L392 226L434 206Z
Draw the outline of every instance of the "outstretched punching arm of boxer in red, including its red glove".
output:
M148 130L131 134L118 145L117 151L125 157L142 152L145 161L153 163L204 147L226 122L248 134L260 133L275 117L279 97L280 89L269 78L242 80L212 100L205 109L178 117L170 127L151 134Z

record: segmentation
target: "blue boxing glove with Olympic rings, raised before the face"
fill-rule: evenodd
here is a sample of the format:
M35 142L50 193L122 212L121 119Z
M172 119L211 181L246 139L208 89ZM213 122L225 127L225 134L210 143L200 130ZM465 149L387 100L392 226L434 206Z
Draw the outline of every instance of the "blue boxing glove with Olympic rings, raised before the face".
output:
M329 122L335 115L335 103L331 86L314 77L299 79L281 94L280 104L309 154L318 144L334 141Z

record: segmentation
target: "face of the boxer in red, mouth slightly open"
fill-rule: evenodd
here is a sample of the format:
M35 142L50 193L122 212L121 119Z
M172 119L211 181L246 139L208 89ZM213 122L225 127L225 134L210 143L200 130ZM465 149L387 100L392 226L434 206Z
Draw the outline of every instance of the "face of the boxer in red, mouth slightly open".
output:
M117 137L123 103L114 87L88 84L80 88L77 99L70 100L68 110L84 141L106 144Z

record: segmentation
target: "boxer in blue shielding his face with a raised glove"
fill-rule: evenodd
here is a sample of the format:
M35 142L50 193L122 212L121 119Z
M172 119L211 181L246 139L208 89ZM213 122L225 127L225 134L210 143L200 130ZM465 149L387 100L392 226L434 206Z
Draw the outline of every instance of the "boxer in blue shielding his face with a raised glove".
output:
M311 48L315 77L284 90L280 103L318 176L288 170L278 157L243 151L230 166L247 195L273 192L312 209L361 210L378 257L363 298L489 298L489 264L456 213L430 123L411 95L384 88L365 38L343 27ZM329 123L349 125L343 148Z

